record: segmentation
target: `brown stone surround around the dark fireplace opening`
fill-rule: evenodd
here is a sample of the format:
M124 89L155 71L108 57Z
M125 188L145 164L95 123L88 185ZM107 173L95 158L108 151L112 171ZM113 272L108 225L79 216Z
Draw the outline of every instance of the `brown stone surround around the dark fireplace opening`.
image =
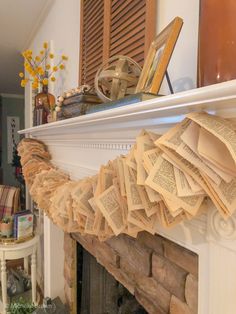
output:
M150 314L196 314L197 254L147 232L137 239L121 235L106 242L93 236L65 234L65 294L76 308L76 241L115 277Z

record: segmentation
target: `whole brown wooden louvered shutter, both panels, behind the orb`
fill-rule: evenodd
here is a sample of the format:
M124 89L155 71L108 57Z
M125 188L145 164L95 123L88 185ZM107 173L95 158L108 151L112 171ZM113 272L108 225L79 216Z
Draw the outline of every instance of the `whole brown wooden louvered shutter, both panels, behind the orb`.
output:
M80 82L93 85L98 67L114 55L129 56L143 66L155 37L156 0L81 2Z

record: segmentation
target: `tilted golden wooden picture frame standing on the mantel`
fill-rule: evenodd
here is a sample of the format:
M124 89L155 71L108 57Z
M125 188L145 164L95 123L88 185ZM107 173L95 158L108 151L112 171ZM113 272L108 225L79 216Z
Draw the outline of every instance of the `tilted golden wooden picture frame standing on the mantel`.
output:
M174 18L153 40L136 87L136 93L158 94L179 37L183 20Z

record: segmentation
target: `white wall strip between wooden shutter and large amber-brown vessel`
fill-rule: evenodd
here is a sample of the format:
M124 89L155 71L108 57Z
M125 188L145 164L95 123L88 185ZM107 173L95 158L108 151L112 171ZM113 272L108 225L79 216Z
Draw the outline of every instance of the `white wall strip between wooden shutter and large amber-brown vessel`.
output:
M157 1L157 34L174 17L179 16L184 20L168 66L174 92L196 88L199 0L154 1ZM169 93L166 80L164 79L160 94Z

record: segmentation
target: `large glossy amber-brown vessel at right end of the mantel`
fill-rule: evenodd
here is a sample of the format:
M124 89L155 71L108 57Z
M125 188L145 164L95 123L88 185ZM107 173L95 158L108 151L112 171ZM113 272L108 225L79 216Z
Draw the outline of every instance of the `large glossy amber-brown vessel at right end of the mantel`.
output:
M236 78L236 1L201 0L198 86Z

